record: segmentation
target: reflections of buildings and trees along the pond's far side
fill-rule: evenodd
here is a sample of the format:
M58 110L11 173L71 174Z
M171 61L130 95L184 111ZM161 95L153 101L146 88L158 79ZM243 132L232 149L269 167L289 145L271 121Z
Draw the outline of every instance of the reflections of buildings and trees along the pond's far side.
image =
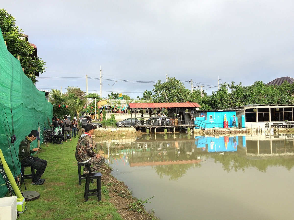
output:
M108 163L130 167L152 166L156 173L170 180L183 176L190 167L201 167L208 158L223 165L225 171L256 167L266 170L269 165L293 167L293 160L282 156L294 155L294 135L217 135L187 134L143 135L140 138L113 139L100 142ZM275 158L266 158L276 156ZM263 158L256 160L256 158ZM253 159L255 158L255 159ZM292 158L292 157L291 157ZM173 165L173 166L171 166Z

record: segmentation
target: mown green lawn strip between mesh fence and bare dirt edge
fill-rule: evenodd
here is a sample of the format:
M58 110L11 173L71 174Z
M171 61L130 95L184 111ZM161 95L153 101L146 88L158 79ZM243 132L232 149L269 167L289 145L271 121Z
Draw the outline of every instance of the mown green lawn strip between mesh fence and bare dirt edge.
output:
M78 185L75 158L77 141L78 138L73 138L72 141L63 142L63 145L41 145L42 149L35 156L48 162L42 176L46 182L35 186L31 185L31 180L25 180L27 190L39 192L40 198L27 202L27 210L20 214L22 219L122 219L109 202L109 186L104 185L103 181L102 200L98 202L98 197L90 196L88 202L85 202L85 180L82 180L82 185ZM26 172L29 173L30 169L26 169ZM95 181L90 184L90 189L94 187Z

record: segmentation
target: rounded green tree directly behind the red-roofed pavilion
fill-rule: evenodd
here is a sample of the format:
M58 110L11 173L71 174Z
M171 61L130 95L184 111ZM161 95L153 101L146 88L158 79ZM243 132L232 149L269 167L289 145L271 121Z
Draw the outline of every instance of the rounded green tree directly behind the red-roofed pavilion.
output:
M154 85L154 102L187 102L190 99L191 91L175 77L169 78L167 82L160 80Z

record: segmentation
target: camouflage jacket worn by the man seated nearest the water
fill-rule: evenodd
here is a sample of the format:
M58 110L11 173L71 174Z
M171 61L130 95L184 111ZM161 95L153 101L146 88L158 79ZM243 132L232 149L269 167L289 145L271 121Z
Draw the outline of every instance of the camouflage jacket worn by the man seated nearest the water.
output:
M96 157L97 154L93 151L95 146L95 141L89 135L82 134L76 145L76 160L78 162L85 162L91 157Z

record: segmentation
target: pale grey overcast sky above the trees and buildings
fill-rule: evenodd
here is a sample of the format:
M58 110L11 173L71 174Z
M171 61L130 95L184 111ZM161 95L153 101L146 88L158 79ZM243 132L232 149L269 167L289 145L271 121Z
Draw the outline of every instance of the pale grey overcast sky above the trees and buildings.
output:
M166 74L208 94L218 77L294 78L293 0L0 1L46 62L39 89L86 91L88 75L88 92L100 94L100 66L102 97L142 97Z

